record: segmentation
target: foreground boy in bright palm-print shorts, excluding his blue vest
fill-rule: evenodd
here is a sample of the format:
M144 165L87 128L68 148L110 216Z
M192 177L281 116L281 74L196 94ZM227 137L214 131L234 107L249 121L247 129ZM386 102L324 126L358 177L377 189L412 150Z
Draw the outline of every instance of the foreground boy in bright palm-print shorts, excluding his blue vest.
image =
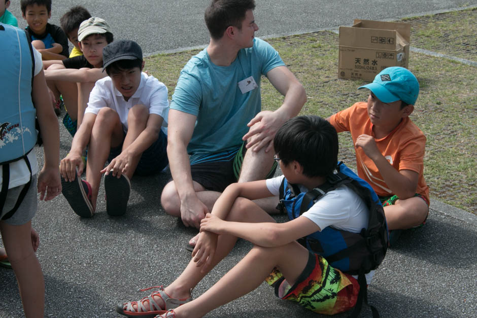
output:
M192 260L182 274L149 297L119 304L119 313L201 317L253 291L264 280L276 284L280 298L318 313L335 314L355 306L360 290L356 276L331 266L297 240L330 227L360 233L367 227L369 216L361 197L348 186L339 186L286 223L275 223L252 201L278 196L284 179L300 193L324 185L337 169L336 130L317 116L295 117L278 130L274 148L283 175L228 186L201 221ZM231 251L237 237L254 243L253 249L206 293L191 300L191 290ZM365 275L368 284L373 272Z

